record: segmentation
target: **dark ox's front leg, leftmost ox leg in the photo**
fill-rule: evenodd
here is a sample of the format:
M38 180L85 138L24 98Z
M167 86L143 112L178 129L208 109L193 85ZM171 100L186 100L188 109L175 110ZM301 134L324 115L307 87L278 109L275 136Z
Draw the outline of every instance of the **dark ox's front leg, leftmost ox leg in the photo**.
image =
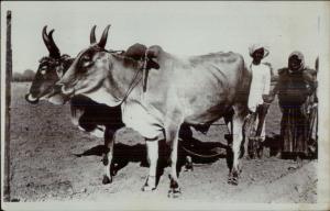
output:
M105 175L103 175L103 180L102 180L102 184L105 184L105 185L111 184L112 176L116 175L114 169L112 169L114 133L116 133L116 131L106 127L105 146L107 148L107 152L103 154Z

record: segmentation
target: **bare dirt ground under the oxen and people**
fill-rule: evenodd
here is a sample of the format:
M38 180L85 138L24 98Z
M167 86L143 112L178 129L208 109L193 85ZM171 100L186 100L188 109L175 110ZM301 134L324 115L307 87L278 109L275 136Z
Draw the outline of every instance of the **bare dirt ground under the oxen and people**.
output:
M29 84L12 84L12 198L29 202L174 200L167 198L169 167L164 169L155 191L141 191L147 175L145 146L143 138L130 129L122 129L117 135L114 156L122 168L112 184L102 185L102 140L75 127L68 106L29 104L24 100L29 87ZM279 133L279 119L280 112L274 102L266 122L267 136ZM212 153L221 151L219 143L227 144L226 133L223 125L213 125L207 135L194 132L194 137L199 140L200 146L212 146L202 153ZM273 141L276 144L276 138ZM82 153L84 156L76 156ZM263 159L242 159L243 171L238 186L227 184L226 158L193 157L193 171L180 170L183 195L175 200L310 203L317 199L316 159L304 160L302 167L292 168L294 160L270 156L266 147Z

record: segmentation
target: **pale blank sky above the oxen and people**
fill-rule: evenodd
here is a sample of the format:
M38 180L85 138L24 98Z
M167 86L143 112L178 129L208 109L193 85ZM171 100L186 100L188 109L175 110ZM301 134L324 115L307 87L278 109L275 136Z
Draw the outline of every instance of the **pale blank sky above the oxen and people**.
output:
M55 29L62 53L76 56L111 24L107 48L127 49L134 43L161 45L175 55L237 52L251 63L249 46L270 46L266 58L275 68L301 51L314 67L319 55L320 23L327 2L1 2L1 58L4 60L6 10L12 11L13 71L35 70L47 55L42 29ZM2 63L3 64L3 63ZM3 65L2 65L3 68Z

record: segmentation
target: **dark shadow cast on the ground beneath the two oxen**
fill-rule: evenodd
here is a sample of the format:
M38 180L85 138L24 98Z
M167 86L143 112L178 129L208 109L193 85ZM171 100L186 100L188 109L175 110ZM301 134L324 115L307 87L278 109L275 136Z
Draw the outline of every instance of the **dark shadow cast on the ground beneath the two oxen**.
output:
M158 147L158 167L160 175L162 175L163 169L169 165L169 146L165 143L165 140L162 140ZM194 137L189 138L189 141L180 141L178 147L178 173L183 166L187 165L187 156L190 157L194 164L207 165L217 162L219 158L227 158L228 149L227 145L219 142L201 142ZM75 154L75 156L102 156L108 151L105 145L97 145L81 154ZM117 143L114 144L113 157L116 171L124 168L129 163L140 163L142 167L148 166L144 144L127 145Z

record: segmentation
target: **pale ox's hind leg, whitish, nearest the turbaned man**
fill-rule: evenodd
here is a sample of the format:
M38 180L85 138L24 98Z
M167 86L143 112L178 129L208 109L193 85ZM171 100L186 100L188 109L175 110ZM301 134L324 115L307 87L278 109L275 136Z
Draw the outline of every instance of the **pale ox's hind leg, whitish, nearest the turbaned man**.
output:
M228 182L231 185L238 185L240 169L240 159L243 142L243 121L244 119L234 114L233 116L233 142L232 142L232 167L230 168Z

